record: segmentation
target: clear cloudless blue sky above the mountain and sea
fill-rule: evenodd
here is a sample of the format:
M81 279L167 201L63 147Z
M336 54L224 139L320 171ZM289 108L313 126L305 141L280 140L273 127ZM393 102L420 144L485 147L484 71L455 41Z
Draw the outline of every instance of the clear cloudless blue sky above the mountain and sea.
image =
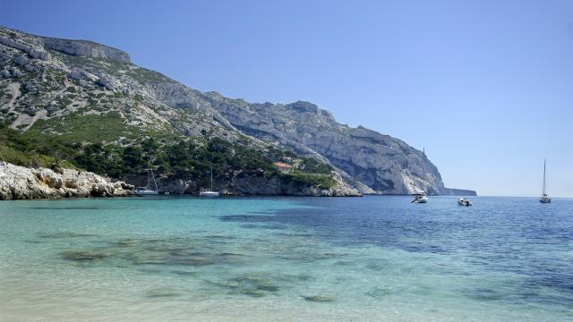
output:
M573 197L573 1L2 0L0 25L89 39L203 91L311 101L425 147L446 186Z

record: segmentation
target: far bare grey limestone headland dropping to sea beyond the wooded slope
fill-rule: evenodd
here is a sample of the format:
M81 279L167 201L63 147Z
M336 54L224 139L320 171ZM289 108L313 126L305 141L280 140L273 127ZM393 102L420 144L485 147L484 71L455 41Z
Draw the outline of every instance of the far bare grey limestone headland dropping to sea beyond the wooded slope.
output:
M332 114L312 103L248 104L217 93L204 97L235 128L328 161L353 178L364 193L446 192L438 169L422 151L389 135L337 123Z

